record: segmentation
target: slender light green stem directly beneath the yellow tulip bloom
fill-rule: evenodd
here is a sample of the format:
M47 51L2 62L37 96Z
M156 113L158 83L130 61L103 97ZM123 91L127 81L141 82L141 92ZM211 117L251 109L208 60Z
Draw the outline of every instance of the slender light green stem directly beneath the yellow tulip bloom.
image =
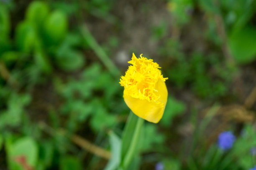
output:
M124 157L124 161L123 161L124 169L128 167L128 165L131 163L131 160L133 159L136 147L138 145L138 139L141 134L141 128L142 128L143 122L144 122L144 119L139 117L136 123L135 131L133 133L133 138L131 139L130 147Z

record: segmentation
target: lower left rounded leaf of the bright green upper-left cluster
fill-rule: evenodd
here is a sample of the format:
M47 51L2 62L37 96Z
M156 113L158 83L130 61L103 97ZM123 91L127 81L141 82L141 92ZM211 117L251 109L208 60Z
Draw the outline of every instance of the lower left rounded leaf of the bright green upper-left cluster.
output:
M28 22L22 22L18 25L15 34L15 42L19 50L23 52L31 52L38 41L36 30L33 25Z

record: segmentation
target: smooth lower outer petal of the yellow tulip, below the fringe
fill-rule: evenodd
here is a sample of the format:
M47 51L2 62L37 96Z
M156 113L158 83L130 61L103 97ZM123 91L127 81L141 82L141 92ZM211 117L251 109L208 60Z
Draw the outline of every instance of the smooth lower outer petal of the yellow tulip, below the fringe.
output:
M159 95L159 100L157 102L148 101L146 99L138 99L131 97L130 95L124 94L124 100L126 105L136 114L149 122L158 123L162 118L164 109L167 102L167 88L165 82L159 79L156 83L155 93Z

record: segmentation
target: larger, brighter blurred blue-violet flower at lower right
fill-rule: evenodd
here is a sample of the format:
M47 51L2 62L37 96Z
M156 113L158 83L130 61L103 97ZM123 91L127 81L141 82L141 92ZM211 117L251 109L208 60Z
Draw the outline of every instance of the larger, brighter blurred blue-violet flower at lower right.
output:
M235 142L236 137L230 131L225 131L220 133L218 138L218 146L222 150L228 150L232 148L233 143Z

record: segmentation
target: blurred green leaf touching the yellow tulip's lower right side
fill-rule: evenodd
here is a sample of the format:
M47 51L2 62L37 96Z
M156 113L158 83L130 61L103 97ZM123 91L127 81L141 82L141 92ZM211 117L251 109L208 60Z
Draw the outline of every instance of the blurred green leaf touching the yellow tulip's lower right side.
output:
M161 125L170 126L172 124L172 119L182 114L186 109L183 102L176 100L174 97L168 97L164 115L160 121Z

